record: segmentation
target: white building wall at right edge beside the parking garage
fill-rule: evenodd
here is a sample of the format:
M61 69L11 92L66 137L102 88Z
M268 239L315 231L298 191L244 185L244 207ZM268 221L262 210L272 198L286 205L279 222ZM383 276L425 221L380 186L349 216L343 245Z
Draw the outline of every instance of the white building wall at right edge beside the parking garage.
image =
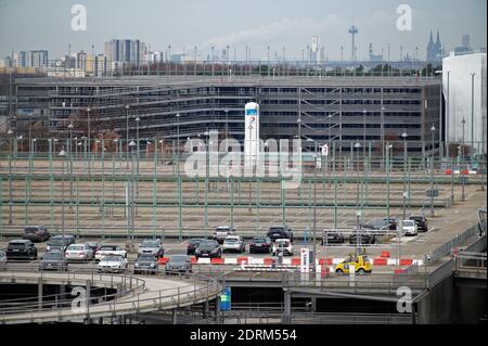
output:
M472 107L472 73L475 74L474 107ZM486 133L486 127L483 127L481 120L483 114L486 114L486 53L458 56L451 53L450 56L442 60L447 141L462 141L463 117L466 121L464 126L466 145L472 142L472 129L474 130L474 142L483 141L483 133ZM474 108L474 119L472 119L472 108ZM475 148L477 148L476 144Z

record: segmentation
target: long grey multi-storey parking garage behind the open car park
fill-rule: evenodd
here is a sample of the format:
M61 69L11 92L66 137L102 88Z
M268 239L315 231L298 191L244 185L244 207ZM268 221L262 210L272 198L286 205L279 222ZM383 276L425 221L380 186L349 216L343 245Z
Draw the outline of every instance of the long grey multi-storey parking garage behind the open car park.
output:
M244 104L256 101L264 140L299 137L309 149L331 141L347 152L359 141L381 155L385 140L401 141L406 132L419 156L439 144L440 80L432 78L30 78L17 79L16 89L13 127L25 129L34 118L55 137L68 137L77 116L91 117L91 138L113 128L123 140L139 130L140 139L182 141L217 129L242 142ZM87 126L73 130L84 136Z

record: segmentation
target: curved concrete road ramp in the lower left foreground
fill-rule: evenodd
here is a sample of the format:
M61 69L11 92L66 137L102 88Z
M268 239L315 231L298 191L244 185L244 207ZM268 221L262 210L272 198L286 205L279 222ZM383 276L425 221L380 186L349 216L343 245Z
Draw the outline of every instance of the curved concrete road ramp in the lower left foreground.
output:
M0 271L0 283L76 286L77 293L39 295L0 302L0 323L90 322L97 318L172 310L217 298L218 279L187 274L175 279L91 272ZM115 294L89 297L87 287L116 289ZM112 290L113 291L113 290ZM53 302L55 298L55 303ZM63 299L64 298L64 299Z

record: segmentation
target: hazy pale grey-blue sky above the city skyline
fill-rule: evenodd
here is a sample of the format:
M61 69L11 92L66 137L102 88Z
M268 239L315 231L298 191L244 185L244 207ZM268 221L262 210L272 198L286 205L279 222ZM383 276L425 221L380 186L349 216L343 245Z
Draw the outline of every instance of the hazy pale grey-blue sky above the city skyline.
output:
M412 30L399 31L396 13L399 4L412 10ZM70 28L74 4L87 9L87 30ZM111 38L139 38L151 50L171 53L198 47L206 55L214 44L221 51L227 44L236 49L237 59L244 59L245 46L254 59L282 54L300 59L301 49L320 38L330 60L350 56L350 35L355 24L358 59L364 59L369 43L375 53L390 43L391 59L415 51L425 57L431 28L440 30L447 50L461 44L461 35L470 34L474 49L486 47L486 0L0 0L0 56L12 50L48 49L50 57L72 52L103 52L103 42Z

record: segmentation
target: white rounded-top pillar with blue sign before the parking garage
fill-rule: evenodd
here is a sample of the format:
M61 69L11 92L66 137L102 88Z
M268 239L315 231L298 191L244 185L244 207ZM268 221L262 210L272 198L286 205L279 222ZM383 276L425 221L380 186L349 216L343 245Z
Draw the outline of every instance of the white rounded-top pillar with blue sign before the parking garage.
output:
M252 174L253 166L256 165L259 154L259 104L248 102L246 103L244 110L244 164L246 172Z

